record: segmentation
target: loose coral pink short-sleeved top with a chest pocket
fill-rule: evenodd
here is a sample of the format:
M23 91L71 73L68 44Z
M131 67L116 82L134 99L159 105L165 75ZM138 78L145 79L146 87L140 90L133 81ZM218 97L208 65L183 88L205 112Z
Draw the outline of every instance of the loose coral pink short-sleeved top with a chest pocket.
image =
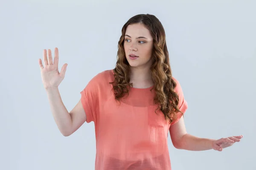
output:
M179 82L175 92L179 109L185 113L187 102ZM96 170L171 170L167 144L170 125L154 104L151 88L131 88L127 98L116 102L112 91L113 70L97 74L81 91L87 123L94 122Z

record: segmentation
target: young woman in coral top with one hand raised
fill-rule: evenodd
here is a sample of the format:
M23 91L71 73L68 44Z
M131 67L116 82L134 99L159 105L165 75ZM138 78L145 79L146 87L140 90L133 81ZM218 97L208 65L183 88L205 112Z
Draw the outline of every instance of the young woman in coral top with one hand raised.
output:
M70 113L62 103L58 85L67 64L58 72L44 50L39 65L55 122L64 136L85 121L94 122L96 170L170 170L168 131L173 145L185 150L222 151L243 137L204 139L186 133L187 109L180 83L172 77L165 31L150 14L132 17L122 28L116 68L97 74L81 91Z

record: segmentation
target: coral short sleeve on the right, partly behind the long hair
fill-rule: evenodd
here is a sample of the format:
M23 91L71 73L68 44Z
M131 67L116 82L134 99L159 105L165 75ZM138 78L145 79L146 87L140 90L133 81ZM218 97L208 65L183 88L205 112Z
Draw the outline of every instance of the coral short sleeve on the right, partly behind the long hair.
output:
M173 78L174 79L174 78ZM177 81L177 79L174 79L175 82L176 82L176 87L174 89L174 91L177 93L177 95L179 96L179 104L178 104L178 108L180 109L181 112L185 113L187 108L188 108L188 104L184 98L184 94L183 94L183 91L182 91L182 88L180 86L180 82ZM174 120L172 123L171 123L171 126L174 125L175 123L177 123L179 121L179 119L181 118L182 116L182 113L181 112L177 112L177 119Z

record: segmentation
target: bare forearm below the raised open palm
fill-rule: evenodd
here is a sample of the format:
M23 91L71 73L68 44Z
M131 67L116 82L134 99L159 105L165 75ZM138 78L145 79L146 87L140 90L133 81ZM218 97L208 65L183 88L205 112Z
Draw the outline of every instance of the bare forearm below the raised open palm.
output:
M68 136L72 127L72 119L67 108L62 102L58 88L47 89L46 91L52 115L58 129L64 136Z

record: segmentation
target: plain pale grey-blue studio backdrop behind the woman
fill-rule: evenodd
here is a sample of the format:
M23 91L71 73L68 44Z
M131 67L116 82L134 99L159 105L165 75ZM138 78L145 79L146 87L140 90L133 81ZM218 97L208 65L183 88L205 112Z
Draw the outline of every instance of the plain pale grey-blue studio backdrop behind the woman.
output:
M256 2L253 0L23 0L0 5L0 170L93 170L93 122L64 137L50 112L38 59L59 49L59 86L71 111L80 91L116 62L125 22L154 14L189 109L188 133L244 135L224 149L169 152L173 170L255 170Z

